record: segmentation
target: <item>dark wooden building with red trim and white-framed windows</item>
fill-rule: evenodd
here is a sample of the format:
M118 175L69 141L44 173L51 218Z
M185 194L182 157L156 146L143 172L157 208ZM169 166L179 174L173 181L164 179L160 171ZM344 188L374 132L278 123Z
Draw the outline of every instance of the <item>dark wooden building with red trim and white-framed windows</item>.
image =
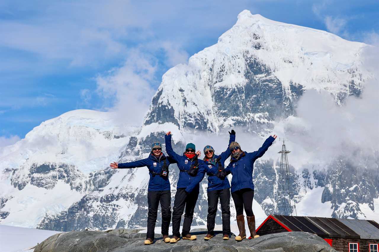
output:
M342 252L379 252L379 224L362 219L270 215L257 234L292 231L314 233Z

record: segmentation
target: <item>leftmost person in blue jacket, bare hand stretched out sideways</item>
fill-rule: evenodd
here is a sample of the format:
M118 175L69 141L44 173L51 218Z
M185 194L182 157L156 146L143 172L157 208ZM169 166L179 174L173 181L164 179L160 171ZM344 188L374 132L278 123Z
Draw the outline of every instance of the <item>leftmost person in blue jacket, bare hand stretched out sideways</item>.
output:
M147 234L145 244L149 245L154 240L155 222L157 221L158 204L161 204L162 212L162 235L165 243L170 242L168 228L171 220L171 187L168 179L168 166L175 163L170 157L164 156L162 146L159 142L154 142L151 146L151 153L146 159L128 163L111 163L112 169L136 168L147 166L150 179L147 189Z

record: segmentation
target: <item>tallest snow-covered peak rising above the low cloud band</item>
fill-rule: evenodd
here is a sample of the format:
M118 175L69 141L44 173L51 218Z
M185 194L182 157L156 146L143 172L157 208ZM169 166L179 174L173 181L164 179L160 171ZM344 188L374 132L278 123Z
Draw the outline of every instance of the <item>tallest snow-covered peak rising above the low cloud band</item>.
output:
M240 125L260 132L262 124L294 114L303 90L327 90L341 104L373 78L362 67L365 47L245 10L217 44L163 75L144 124L173 122L212 132Z

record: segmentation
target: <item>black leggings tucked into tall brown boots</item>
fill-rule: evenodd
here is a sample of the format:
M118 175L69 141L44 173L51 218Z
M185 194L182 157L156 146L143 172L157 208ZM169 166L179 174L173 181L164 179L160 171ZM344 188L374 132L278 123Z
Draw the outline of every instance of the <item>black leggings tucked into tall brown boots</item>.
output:
M243 188L232 193L234 205L236 206L237 215L243 215L243 209L247 216L253 216L253 198L254 190Z

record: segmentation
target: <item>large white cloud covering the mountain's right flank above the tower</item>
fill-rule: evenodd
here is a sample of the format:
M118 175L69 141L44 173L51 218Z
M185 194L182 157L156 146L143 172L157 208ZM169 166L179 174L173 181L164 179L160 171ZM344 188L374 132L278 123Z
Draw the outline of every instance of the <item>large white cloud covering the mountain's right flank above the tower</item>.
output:
M374 36L375 37L375 36ZM373 41L377 44L379 40ZM368 162L379 151L379 48L366 47L363 65L376 78L365 83L359 97L349 96L338 106L327 93L307 90L301 96L298 118L287 118L286 137L302 146L316 160L327 161L338 156L354 162ZM310 158L310 157L309 157ZM373 163L368 167L375 167Z

